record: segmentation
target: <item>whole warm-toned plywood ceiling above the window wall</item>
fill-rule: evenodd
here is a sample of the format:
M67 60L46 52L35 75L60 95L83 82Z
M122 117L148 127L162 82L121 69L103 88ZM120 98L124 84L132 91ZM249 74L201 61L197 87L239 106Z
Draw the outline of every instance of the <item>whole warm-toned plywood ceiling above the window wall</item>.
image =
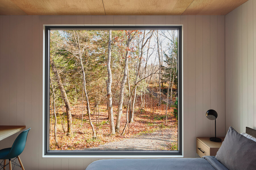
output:
M0 15L226 15L247 0L0 0Z

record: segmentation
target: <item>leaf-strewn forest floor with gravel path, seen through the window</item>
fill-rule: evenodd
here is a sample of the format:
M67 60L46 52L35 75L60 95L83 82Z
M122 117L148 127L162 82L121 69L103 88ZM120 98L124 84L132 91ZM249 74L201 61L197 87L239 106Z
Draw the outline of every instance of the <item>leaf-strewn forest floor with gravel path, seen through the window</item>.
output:
M147 100L149 101L149 98ZM168 107L166 123L166 104L163 103L158 107L154 103L156 102L153 102L151 105L150 102L148 102L148 105L145 103L144 109L135 110L134 122L129 123L129 128L127 127L123 136L120 134L109 135L110 125L107 121L108 111L106 105L99 105L99 111L97 110L95 114L93 114L95 108L91 106L91 118L97 133L96 138L93 138L92 128L88 120L88 115L86 115L85 105L83 114L81 104L72 107L73 133L68 136L66 135L67 117L65 107L58 108L58 145L56 145L54 141L54 116L51 120L50 115L50 150L91 150L92 148L104 148L110 145L113 145L113 147L109 148L109 150L138 150L140 149L139 147L141 147L142 150L177 150L177 119L173 115L174 106L171 105L171 107ZM139 106L137 106L137 108L138 107ZM113 112L115 122L117 106L113 107ZM82 119L83 124L81 128ZM62 123L62 121L64 121L64 123ZM123 131L125 123L126 108L123 109L121 116L120 133ZM65 132L63 131L63 126ZM136 148L130 147L134 146L135 143L133 142L136 143Z

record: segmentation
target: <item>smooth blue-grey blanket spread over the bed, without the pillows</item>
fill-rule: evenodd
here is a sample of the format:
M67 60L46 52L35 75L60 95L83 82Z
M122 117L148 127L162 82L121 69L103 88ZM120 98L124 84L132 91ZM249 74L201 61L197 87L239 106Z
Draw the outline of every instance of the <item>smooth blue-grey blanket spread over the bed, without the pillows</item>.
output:
M207 158L207 157L206 157ZM208 162L211 161L211 163ZM86 170L227 170L214 157L106 159L92 162ZM221 165L219 165L219 163ZM214 166L212 166L212 164Z

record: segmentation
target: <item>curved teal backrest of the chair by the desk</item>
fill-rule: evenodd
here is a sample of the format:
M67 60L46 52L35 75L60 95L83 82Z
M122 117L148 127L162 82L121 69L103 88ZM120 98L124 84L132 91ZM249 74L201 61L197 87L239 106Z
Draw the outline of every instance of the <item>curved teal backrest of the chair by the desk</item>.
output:
M7 155L7 157L9 158L15 158L17 156L19 156L24 148L25 148L25 145L26 145L26 141L27 141L27 136L28 136L28 131L30 130L31 128L21 132L18 137L15 139L14 143L13 143L13 146L9 152L9 154Z

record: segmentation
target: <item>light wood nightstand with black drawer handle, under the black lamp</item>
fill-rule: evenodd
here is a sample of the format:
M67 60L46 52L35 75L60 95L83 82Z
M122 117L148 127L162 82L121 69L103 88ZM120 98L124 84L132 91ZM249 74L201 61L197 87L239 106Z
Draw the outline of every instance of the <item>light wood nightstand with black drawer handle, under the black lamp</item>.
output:
M210 137L197 137L197 154L199 156L215 156L225 137L219 137L221 142L210 141Z

